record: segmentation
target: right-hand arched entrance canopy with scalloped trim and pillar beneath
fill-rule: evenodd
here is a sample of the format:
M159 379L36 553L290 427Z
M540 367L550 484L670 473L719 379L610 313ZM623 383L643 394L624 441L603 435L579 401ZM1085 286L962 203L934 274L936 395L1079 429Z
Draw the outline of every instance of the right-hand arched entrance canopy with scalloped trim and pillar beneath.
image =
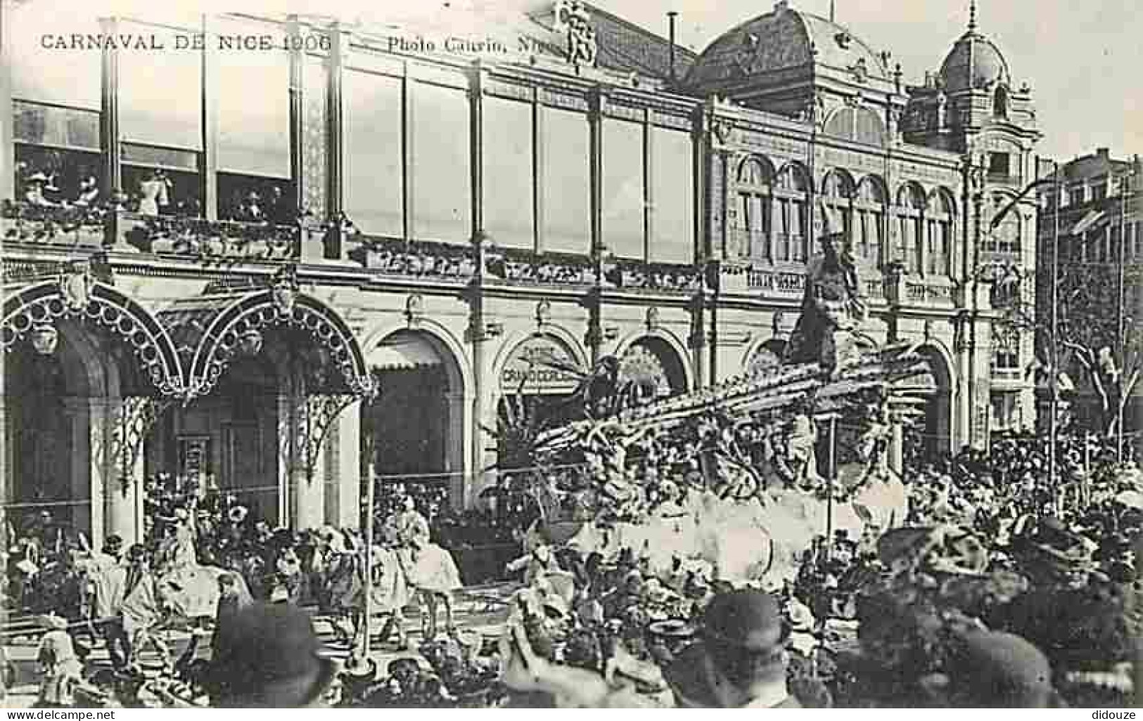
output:
M178 446L166 449L165 462L177 458L182 472L183 447L198 438L206 449L197 452L213 459L221 486L256 503L267 521L306 528L345 515L345 503L330 497L345 495L341 486L357 492L355 463L342 483L350 471L323 451L341 442L331 432L343 427L342 412L375 385L337 312L301 293L287 266L270 287L208 289L157 315L185 369L187 401L197 401L175 414L167 440ZM322 474L329 478L317 482Z

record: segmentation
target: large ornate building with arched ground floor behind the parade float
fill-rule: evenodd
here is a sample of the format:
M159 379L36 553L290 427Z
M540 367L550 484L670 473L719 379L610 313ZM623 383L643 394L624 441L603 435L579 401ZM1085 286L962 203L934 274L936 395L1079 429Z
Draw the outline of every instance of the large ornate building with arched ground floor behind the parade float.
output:
M130 538L145 474L201 471L272 520L354 523L362 457L469 504L505 399L575 385L537 359L614 354L662 394L778 362L825 225L871 331L932 362L919 442L1031 423L982 269L1034 263L1034 203L985 231L1039 134L975 17L912 87L784 1L698 56L566 3L515 48L3 11L11 518L59 502ZM110 209L74 203L93 187Z

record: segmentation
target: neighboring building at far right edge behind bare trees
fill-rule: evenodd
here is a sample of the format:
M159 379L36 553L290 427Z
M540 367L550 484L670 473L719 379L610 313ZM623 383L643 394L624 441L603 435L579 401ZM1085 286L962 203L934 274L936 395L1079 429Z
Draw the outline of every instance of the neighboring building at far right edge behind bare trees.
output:
M1130 364L1138 358L1143 318L1143 160L1138 155L1117 160L1106 147L1101 147L1094 154L1058 167L1041 161L1040 175L1056 178L1057 183L1044 186L1039 193L1037 245L1041 282L1036 299L1039 321L1045 328L1050 326L1053 286L1058 286L1058 293L1063 294L1084 290L1077 288L1081 285L1088 286L1087 290L1095 288L1105 315L1095 318L1093 325L1103 331L1101 342L1106 343L1117 363L1122 362L1120 344L1125 337L1128 339ZM1052 277L1056 242L1058 280ZM1066 315L1066 307L1062 312ZM1118 319L1122 321L1117 322ZM1050 357L1046 347L1039 351L1042 358ZM1078 420L1097 428L1100 401L1090 376L1073 355L1069 355L1066 363L1063 370L1073 392L1065 400ZM1045 383L1038 394L1041 409L1046 409L1050 386ZM1140 394L1141 388L1136 387L1126 407L1128 432L1143 428ZM1040 416L1048 417L1047 412Z

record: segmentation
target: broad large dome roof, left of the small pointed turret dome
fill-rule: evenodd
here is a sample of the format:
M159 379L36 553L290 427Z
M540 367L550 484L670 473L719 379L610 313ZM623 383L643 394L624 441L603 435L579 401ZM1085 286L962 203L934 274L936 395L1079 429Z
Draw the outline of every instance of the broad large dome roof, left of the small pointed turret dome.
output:
M810 63L888 79L881 58L847 29L778 2L773 11L706 46L687 75L687 85L742 80Z

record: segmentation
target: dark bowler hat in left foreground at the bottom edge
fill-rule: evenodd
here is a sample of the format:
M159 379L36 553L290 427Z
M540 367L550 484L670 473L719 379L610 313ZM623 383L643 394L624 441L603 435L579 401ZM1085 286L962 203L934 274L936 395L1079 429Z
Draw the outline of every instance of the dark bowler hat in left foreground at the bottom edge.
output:
M219 641L211 668L211 700L218 706L307 706L321 698L337 673L337 664L321 655L309 614L290 603L243 608Z

